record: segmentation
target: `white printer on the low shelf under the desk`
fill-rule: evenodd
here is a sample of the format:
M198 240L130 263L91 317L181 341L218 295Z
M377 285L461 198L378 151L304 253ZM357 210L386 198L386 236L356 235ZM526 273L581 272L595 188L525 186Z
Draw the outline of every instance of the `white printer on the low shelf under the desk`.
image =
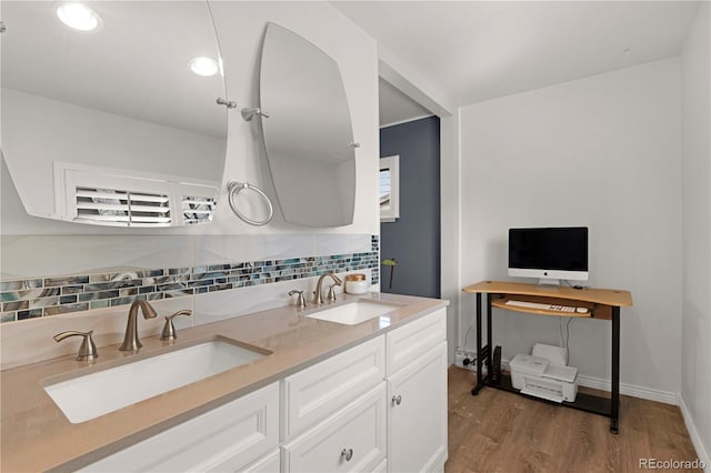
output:
M537 343L532 355L515 355L509 363L513 388L520 390L523 394L549 401L575 401L578 395L578 369L565 366L563 356L557 355L559 351L559 346ZM548 358L537 356L537 354L543 354Z

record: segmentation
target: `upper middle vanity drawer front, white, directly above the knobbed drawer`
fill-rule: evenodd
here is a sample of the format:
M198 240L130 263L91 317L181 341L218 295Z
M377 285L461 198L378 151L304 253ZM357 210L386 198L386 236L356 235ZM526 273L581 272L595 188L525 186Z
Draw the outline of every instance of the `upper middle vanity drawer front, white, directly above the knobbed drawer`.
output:
M283 380L282 437L291 439L385 378L385 342L378 336Z

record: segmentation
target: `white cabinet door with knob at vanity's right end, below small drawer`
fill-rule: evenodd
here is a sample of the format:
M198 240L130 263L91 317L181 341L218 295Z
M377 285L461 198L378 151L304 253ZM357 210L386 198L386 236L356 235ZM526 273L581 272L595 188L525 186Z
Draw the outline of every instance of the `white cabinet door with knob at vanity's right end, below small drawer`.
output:
M447 460L447 342L388 379L391 473L441 467Z

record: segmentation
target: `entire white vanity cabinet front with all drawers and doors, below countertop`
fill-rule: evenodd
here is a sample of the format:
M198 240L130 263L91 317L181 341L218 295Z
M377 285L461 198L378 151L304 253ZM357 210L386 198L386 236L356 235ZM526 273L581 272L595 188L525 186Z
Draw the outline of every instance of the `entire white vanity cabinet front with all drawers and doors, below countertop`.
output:
M405 323L84 471L442 471L445 319Z

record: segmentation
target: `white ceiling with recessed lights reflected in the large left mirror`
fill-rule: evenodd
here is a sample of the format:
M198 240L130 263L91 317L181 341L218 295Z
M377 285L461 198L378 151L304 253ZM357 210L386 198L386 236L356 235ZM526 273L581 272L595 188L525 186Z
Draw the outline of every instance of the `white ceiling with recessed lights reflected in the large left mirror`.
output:
M2 1L2 87L93 110L227 138L221 74L199 77L189 60L219 57L207 4L87 2L102 19L79 32L57 1Z

